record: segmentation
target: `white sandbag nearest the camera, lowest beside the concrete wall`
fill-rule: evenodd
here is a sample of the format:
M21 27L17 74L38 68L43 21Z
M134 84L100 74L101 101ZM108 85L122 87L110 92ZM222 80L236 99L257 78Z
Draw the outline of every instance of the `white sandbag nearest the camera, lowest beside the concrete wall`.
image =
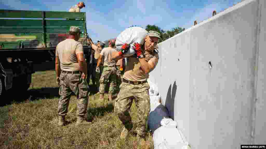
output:
M154 149L184 149L190 148L177 128L161 126L153 133Z

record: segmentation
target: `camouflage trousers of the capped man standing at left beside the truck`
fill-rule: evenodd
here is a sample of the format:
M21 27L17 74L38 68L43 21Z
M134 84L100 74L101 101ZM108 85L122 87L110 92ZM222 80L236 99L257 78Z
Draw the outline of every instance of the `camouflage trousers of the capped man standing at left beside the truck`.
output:
M89 86L86 79L81 78L81 74L71 74L62 72L60 74L58 115L64 116L68 112L70 94L74 92L77 97L77 116L85 116L88 107Z

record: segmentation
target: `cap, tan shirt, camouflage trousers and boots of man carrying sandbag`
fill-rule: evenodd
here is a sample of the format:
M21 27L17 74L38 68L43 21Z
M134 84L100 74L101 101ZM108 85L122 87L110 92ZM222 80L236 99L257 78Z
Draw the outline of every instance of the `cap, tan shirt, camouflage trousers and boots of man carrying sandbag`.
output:
M149 31L148 36L160 38L160 34L154 31ZM145 43L144 43L145 44ZM145 51L142 49L143 58L146 62L152 62L154 67L157 65L159 55L156 50ZM149 84L147 83L148 73L144 73L141 68L141 63L136 56L129 56L126 64L126 69L123 74L123 82L119 86L119 93L116 98L114 111L117 113L119 119L122 121L124 128L121 132L120 138L123 139L127 136L128 132L132 129L132 120L129 114L129 109L132 105L133 99L135 100L136 107L138 108L137 119L137 137L145 138L146 134L146 121L150 111L150 98L149 98Z

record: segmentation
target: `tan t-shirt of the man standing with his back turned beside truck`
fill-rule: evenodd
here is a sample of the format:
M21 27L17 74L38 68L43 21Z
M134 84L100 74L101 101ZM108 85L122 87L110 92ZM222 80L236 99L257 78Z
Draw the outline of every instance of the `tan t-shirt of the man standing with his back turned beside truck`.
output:
M60 68L63 71L79 71L78 53L83 53L83 46L74 39L66 39L56 46L56 56L60 60Z

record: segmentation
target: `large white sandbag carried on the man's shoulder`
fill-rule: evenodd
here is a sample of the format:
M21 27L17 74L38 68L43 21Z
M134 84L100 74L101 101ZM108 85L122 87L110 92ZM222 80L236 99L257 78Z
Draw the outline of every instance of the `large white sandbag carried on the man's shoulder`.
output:
M117 51L121 51L121 47L127 43L130 45L130 49L123 55L125 57L131 56L135 54L135 51L133 49L133 45L135 42L138 42L139 44L144 43L145 36L147 34L147 30L141 27L130 27L125 29L123 32L121 32L115 41L115 46Z

